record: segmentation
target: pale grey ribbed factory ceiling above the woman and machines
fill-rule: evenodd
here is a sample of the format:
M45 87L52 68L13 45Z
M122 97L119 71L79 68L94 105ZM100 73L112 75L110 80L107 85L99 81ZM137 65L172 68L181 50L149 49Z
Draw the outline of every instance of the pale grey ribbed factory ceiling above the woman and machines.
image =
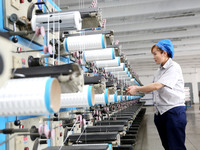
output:
M55 0L62 10L89 8L92 0ZM200 68L200 0L98 0L106 30L114 31L133 70L155 71L151 47L171 39L182 68Z

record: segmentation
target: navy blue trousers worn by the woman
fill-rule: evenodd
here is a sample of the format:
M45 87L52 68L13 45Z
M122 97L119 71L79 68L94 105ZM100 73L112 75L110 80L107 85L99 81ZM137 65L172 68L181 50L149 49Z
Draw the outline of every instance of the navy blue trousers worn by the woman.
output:
M186 150L186 107L174 107L164 114L154 116L160 139L165 150Z

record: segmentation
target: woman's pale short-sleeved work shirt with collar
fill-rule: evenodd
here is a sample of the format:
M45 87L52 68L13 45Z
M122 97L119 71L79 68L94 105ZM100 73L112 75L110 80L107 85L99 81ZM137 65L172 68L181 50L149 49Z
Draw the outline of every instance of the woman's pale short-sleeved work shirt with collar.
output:
M185 106L184 80L179 64L171 58L164 66L158 68L153 82L160 82L165 86L153 91L153 100L158 112L162 115L169 109L177 106Z

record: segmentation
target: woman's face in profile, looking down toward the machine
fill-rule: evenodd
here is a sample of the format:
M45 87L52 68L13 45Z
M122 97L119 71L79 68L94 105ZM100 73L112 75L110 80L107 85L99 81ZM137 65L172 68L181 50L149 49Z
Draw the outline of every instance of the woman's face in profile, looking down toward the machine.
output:
M164 52L161 53L161 51L156 47L153 48L152 54L156 64L162 64L166 60L166 55L164 55Z

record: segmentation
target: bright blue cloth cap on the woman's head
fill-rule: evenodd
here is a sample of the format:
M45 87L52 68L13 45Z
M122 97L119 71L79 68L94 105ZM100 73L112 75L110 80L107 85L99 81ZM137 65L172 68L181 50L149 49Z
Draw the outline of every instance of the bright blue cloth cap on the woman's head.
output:
M174 56L174 46L172 44L172 41L170 41L169 39L164 39L159 41L156 44L160 49L162 49L163 51L166 51L167 54L169 54L169 56L171 58L173 58Z

